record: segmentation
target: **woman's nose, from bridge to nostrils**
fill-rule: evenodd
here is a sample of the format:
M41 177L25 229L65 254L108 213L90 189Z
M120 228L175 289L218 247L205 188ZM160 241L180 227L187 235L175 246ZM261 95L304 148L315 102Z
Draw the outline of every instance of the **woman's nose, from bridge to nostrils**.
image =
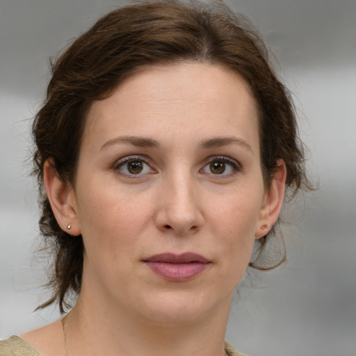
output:
M200 194L194 179L186 174L166 177L159 187L157 229L179 236L194 234L204 223Z

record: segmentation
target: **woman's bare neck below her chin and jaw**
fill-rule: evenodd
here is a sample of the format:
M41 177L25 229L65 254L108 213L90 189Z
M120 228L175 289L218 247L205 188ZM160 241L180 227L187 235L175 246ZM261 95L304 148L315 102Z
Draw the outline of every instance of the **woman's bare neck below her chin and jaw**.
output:
M152 321L79 298L66 316L67 355L223 356L229 306L194 321Z

